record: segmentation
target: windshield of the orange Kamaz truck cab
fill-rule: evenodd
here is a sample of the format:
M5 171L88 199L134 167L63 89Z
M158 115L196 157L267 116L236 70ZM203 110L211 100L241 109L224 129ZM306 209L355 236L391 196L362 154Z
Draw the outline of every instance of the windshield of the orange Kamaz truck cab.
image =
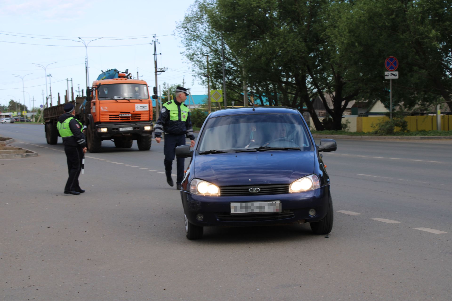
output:
M148 99L147 86L138 83L117 83L100 85L97 90L99 100L105 99Z

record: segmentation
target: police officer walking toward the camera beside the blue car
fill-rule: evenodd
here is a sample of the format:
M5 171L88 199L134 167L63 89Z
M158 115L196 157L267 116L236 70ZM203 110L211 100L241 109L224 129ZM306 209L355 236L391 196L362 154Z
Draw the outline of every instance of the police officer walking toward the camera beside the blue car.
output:
M166 181L173 186L171 178L171 168L176 155L176 146L185 145L185 135L190 138L190 147L195 145L195 136L193 135L192 123L188 113L188 107L184 104L187 99L187 89L176 88L176 99L166 102L160 112L159 120L154 128L155 141L160 143L162 132L165 131L165 173ZM177 158L177 179L176 188L180 190L182 180L184 179L184 158Z

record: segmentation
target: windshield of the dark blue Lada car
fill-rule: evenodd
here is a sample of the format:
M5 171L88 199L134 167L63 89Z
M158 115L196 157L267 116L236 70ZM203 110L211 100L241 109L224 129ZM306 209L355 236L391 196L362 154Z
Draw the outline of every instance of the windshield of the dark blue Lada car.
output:
M312 149L311 139L300 115L247 114L210 118L202 131L198 152L272 148Z

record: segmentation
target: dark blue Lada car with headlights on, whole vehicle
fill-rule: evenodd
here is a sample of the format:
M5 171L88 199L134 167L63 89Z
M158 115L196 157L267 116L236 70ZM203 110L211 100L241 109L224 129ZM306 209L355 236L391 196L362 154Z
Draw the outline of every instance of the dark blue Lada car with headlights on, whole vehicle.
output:
M284 107L225 109L211 113L191 157L180 191L188 239L206 226L259 226L309 222L315 234L333 227L330 178L299 111Z

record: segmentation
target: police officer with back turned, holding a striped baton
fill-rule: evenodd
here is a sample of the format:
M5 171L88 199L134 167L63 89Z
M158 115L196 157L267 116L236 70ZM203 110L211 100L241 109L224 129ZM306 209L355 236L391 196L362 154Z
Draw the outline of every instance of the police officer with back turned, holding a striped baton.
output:
M58 118L56 128L63 138L64 152L67 157L67 169L69 178L64 187L65 194L78 195L85 190L79 186L79 175L82 170L83 154L86 153L86 139L83 134L83 126L79 120L75 119L74 106L67 103L64 106L65 114Z

